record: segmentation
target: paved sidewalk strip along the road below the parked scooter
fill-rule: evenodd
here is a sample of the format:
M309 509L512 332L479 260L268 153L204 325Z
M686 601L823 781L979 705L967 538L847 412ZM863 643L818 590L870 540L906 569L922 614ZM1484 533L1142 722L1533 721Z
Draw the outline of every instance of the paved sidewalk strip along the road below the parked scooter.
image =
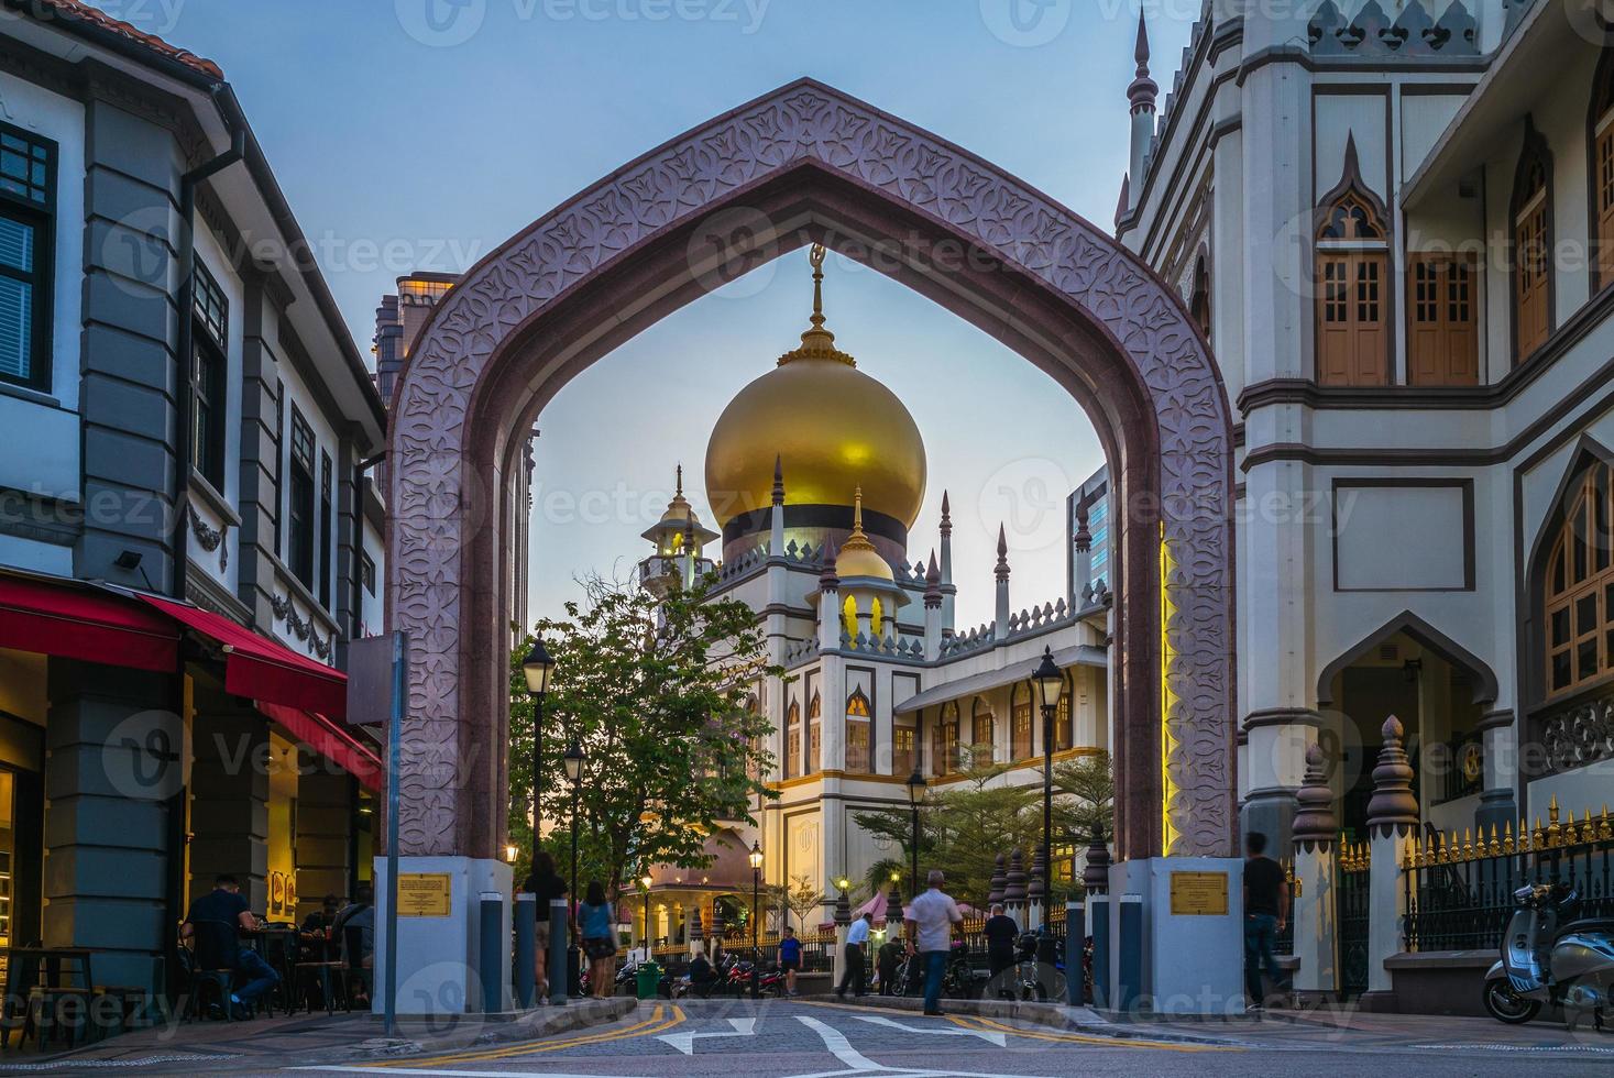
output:
M834 1005L839 1001L834 996L820 996L813 1002ZM847 1005L918 1013L923 1009L923 1001L863 996L857 1001L847 1001ZM949 1015L975 1015L1004 1026L1052 1028L1117 1039L1307 1051L1349 1042L1353 1049L1495 1049L1514 1054L1569 1051L1614 1057L1614 1033L1593 1031L1590 1020L1578 1031L1570 1033L1561 1022L1551 1020L1507 1026L1491 1018L1367 1012L1349 1004L1317 1010L1278 1009L1261 1015L1227 1018L1112 1015L1091 1007L1012 1001L944 999L941 1007Z

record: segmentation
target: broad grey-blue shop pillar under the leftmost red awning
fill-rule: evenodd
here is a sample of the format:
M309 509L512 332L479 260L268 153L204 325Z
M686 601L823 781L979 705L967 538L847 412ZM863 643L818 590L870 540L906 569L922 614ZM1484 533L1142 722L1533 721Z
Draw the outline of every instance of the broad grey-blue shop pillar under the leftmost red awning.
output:
M92 949L100 984L158 991L184 917L176 678L52 658L48 683L42 939Z

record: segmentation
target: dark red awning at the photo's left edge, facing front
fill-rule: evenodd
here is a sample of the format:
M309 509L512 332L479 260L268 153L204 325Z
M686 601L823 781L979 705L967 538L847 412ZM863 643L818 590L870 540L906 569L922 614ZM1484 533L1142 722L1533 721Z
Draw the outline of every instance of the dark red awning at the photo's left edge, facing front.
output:
M161 673L179 666L169 618L71 581L0 576L0 647Z

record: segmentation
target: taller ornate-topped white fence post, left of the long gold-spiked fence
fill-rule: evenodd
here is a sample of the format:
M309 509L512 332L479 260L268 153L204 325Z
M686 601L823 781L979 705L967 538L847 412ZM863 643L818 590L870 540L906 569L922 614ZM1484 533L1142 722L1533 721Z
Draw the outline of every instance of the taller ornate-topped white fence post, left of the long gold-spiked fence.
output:
M1417 844L1419 810L1412 796L1412 765L1406 749L1401 720L1385 720L1385 747L1374 767L1374 796L1367 802L1369 831L1369 921L1367 921L1367 991L1364 1010L1394 1010L1396 994L1385 960L1401 954L1401 930L1407 912L1401 865Z

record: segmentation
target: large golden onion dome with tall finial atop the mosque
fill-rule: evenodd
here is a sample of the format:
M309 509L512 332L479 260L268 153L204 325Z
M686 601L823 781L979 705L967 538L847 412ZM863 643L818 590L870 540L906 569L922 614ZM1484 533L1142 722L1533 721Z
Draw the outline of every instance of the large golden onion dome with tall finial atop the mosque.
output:
M846 505L862 486L868 508L912 528L925 500L925 442L894 392L857 370L823 328L823 249L813 249L813 315L802 344L739 391L707 444L707 503L718 528L767 508L773 465L788 505Z

